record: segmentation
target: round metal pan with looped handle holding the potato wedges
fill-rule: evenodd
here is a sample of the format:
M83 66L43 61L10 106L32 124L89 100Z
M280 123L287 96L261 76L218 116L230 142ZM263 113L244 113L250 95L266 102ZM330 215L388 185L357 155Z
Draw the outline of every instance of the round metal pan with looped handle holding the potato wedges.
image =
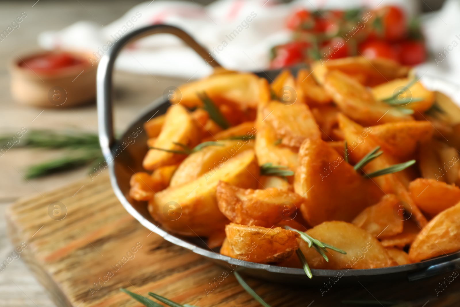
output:
M99 140L106 161L109 162L109 173L112 187L115 195L120 200L125 209L136 218L142 225L157 233L165 240L190 249L196 254L203 255L221 265L229 266L247 273L253 277L264 278L276 282L285 283L305 283L305 284L322 284L329 277L341 274L342 278L351 279L359 278L363 282L372 281L397 281L402 278L408 278L409 281L435 276L443 272L450 272L460 265L460 252L444 255L422 261L419 263L408 264L403 266L392 266L377 269L353 269L353 270L311 270L314 277L307 278L305 272L298 268L288 268L259 264L247 261L240 261L219 254L219 250L207 248L205 241L199 237L182 237L168 233L161 229L155 220L152 219L147 206L143 202L137 202L129 197L129 179L135 172L142 171L142 160L147 152L147 135L143 131L138 133L139 128L143 128L144 122L164 114L169 106L167 99L158 98L134 121L121 139L115 140L113 132L113 111L112 111L112 72L115 58L121 48L128 42L135 41L147 35L157 33L169 33L178 36L200 56L213 67L219 67L215 59L209 53L194 41L190 35L184 31L167 25L153 25L138 29L127 34L118 41L108 52L101 58L97 74L97 104L98 104L98 125ZM276 75L276 72L262 72L258 74L261 77ZM424 83L431 85L433 90L443 89L443 92L457 93L459 88L439 79L424 76ZM135 136L137 135L137 136ZM133 142L134 140L134 142Z

